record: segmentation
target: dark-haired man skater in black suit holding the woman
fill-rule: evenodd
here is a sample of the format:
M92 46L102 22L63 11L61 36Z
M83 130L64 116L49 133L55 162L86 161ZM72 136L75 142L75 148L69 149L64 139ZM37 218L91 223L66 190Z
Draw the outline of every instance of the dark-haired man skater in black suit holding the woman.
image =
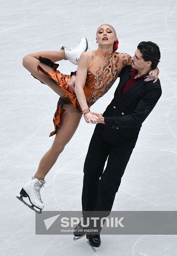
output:
M92 112L97 116L98 123L84 163L83 211L111 211L142 123L162 93L159 79L155 83L144 81L149 71L157 67L159 60L157 44L140 42L132 57L132 67L122 69L114 98L103 115ZM77 228L81 229L81 224ZM74 235L79 237L77 232ZM87 238L92 249L100 246L99 234L89 234Z

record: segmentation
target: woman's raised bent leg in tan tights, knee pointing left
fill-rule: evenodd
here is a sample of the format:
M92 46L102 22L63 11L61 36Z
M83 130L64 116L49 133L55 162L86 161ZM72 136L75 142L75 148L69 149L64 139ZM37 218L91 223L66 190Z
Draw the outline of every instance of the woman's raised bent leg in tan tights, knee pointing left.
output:
M47 66L46 64L39 61L39 56L43 58L48 58L53 62L62 60L65 58L64 50L61 51L41 51L28 54L23 57L23 66L31 73L33 76L37 77L43 83L47 84L54 92L56 92L60 97L63 97L65 93L59 88L57 84L52 82L47 76L45 76L41 71L38 72L37 64L39 64L45 71L54 72L53 68Z

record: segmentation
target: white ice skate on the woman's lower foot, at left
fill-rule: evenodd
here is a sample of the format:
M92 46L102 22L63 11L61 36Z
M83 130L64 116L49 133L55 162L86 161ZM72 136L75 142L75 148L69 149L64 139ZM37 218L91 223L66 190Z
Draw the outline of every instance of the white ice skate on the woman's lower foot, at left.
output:
M41 214L42 209L44 209L44 204L41 200L40 189L44 187L44 184L45 180L32 177L29 182L23 185L20 191L20 197L17 196L17 198L31 210ZM27 202L23 200L23 197L28 197L32 205L27 204ZM34 207L40 209L40 211L36 210Z

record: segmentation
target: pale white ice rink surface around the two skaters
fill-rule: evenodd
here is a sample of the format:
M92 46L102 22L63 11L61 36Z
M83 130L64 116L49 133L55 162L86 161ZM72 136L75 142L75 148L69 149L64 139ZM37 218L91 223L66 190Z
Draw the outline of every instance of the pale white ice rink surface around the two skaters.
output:
M35 235L35 213L16 199L35 174L54 136L53 116L58 95L34 79L22 66L23 56L76 46L90 37L97 49L96 30L109 23L117 31L119 52L134 55L141 41L153 41L161 51L162 96L144 121L121 180L112 210L177 210L176 59L177 2L162 1L4 1L1 4L1 233L0 254L94 255L86 238ZM58 70L70 74L77 66L61 61ZM92 111L103 113L119 78ZM83 165L95 125L84 118L41 189L44 210L82 210ZM177 235L101 235L95 255L174 256Z

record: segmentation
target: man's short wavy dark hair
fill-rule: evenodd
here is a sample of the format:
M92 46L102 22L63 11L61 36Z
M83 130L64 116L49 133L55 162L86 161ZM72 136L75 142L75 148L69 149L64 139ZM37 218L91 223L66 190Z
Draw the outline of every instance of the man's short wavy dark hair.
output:
M137 48L140 50L144 61L151 61L151 68L156 68L160 61L160 50L158 45L151 41L142 41Z

